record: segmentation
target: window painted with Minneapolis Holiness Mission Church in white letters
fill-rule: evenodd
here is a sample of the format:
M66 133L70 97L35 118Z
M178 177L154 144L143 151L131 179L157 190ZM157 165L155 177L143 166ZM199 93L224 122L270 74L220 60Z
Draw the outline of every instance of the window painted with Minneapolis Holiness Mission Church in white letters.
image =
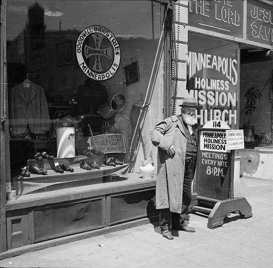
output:
M210 120L238 128L239 45L189 33L187 94L203 105L200 125Z

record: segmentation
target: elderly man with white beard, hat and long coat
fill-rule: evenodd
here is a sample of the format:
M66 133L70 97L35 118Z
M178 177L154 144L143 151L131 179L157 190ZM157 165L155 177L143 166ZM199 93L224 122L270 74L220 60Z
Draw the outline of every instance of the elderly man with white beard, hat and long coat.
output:
M152 143L158 147L159 168L156 182L156 208L160 209L162 235L173 239L172 230L195 232L185 224L192 199L191 183L196 167L197 125L196 99L185 98L181 115L169 116L151 131Z

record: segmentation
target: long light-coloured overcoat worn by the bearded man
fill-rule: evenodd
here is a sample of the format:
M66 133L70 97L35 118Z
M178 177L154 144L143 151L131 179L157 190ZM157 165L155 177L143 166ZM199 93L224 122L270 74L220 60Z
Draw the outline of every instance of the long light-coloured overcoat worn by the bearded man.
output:
M170 208L181 214L187 138L184 128L173 115L158 123L151 131L152 143L158 147L159 167L156 182L156 208ZM167 153L170 146L174 155Z

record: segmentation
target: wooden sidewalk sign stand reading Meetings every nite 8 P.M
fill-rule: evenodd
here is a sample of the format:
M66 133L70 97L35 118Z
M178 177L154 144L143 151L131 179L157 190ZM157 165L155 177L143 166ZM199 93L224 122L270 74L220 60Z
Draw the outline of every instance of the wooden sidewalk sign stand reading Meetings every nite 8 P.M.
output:
M207 228L214 229L222 226L224 218L231 213L252 217L252 208L244 197L234 198L235 151L226 150L224 144L229 126L223 121L210 121L208 127L213 128L206 125L199 138L195 194L190 211L208 214Z

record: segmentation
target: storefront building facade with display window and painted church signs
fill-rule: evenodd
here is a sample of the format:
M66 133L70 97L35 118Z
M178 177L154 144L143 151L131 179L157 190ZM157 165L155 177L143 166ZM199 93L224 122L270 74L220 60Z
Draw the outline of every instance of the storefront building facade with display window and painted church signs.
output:
M156 220L149 132L185 97L269 148L272 49L273 1L1 0L1 256Z

